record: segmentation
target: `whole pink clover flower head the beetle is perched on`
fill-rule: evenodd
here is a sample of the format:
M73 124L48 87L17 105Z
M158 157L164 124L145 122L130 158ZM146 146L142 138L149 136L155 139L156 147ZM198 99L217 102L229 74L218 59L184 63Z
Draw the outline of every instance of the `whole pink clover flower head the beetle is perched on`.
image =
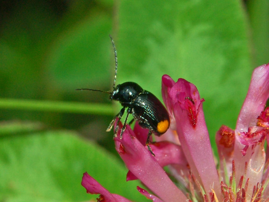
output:
M116 150L129 169L127 180L139 179L153 194L137 190L154 201L269 201L269 64L256 68L236 129L222 126L216 134L219 169L216 168L204 119L203 98L194 84L168 75L162 77L162 97L170 115L169 130L145 146L148 131L128 125L123 138L114 138ZM122 125L119 126L121 129ZM163 170L169 167L169 175ZM111 194L84 173L82 185L98 201L129 201ZM180 188L179 188L180 187Z

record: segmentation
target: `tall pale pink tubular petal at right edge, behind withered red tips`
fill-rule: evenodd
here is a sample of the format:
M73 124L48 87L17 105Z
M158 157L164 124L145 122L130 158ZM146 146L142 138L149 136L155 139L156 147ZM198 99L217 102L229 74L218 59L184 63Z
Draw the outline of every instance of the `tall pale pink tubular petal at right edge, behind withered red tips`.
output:
M240 139L240 132L247 132L248 128L250 126L256 126L257 125L257 117L260 115L261 111L264 110L266 101L269 97L269 64L262 65L254 69L252 73L252 78L250 81L249 90L247 92L246 99L243 103L243 106L241 108L240 114L238 116L238 120L236 123L236 130L235 130L235 136L236 139ZM261 146L260 143L257 143L257 146ZM244 167L245 162L248 163L248 171L249 174L247 177L254 175L254 172L257 173L256 175L256 183L261 182L261 173L260 171L261 167L264 165L263 157L265 154L263 154L262 148L255 147L254 149L248 149L246 151L246 155L242 157L242 154L240 151L244 151L245 145L240 143L240 141L235 141L235 153L234 153L234 161L235 161L235 170L236 170L236 183L239 182L240 177L244 175ZM254 154L255 151L257 154ZM260 154L260 158L256 158L257 155ZM259 162L253 163L254 162ZM254 184L254 183L251 183ZM250 194L251 193L247 193Z

